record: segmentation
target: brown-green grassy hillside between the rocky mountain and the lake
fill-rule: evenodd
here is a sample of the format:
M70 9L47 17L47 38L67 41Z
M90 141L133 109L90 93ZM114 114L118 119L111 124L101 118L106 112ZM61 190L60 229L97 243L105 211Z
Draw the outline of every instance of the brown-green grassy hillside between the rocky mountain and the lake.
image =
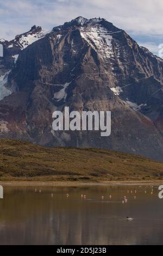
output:
M163 163L104 149L45 148L0 139L0 180L161 180Z

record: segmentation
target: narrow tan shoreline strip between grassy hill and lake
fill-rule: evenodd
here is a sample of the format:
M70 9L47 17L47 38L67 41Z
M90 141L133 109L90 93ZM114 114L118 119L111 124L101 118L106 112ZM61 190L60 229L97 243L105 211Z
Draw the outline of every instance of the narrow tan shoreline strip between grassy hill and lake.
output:
M56 182L56 181L0 181L2 186L106 186L106 185L163 185L163 181L108 181L108 182Z

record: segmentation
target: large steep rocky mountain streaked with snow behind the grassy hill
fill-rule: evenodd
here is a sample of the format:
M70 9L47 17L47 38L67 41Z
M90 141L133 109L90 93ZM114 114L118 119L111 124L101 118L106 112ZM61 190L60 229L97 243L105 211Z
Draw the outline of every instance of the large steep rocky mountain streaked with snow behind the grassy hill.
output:
M1 137L162 160L163 60L126 32L104 19L78 17L18 54L5 87L12 94L0 101ZM111 111L111 136L52 131L53 111L65 106Z

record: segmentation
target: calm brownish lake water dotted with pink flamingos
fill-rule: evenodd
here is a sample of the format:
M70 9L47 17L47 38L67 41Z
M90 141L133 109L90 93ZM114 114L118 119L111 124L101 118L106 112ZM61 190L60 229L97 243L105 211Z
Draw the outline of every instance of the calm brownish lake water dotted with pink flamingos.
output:
M0 244L163 245L163 199L158 186L4 186Z

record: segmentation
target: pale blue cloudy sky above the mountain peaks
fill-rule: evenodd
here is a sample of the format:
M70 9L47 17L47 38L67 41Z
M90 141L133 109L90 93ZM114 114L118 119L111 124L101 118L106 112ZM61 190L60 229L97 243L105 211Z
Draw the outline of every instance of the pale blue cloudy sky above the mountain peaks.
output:
M49 30L77 16L100 16L158 54L162 14L162 0L0 0L0 38L13 39L33 25Z

